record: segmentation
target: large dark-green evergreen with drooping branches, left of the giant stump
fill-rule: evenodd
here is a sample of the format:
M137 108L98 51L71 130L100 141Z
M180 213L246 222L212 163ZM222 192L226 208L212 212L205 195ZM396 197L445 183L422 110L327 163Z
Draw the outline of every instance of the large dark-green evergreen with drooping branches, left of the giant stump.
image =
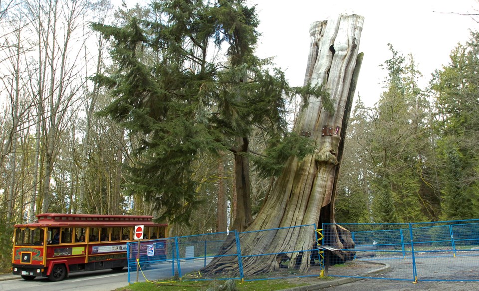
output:
M202 154L230 151L238 197L233 228L243 230L252 220L253 129L268 137L275 154L258 160L264 173L279 172L285 158L309 150L307 140L286 130L284 96L295 90L280 70L270 73L269 60L253 54L257 24L244 0L164 0L121 27L92 25L111 40L118 67L96 78L115 98L103 113L145 137L136 148L141 159L129 167L129 190L151 201L159 219L187 222L200 200L192 164ZM298 91L322 94L320 87Z

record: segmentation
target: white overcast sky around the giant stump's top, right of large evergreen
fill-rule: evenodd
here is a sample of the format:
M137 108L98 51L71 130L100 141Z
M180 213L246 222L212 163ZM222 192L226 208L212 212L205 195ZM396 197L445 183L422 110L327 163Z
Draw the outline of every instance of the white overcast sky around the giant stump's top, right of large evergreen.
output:
M262 33L257 47L260 57L274 56L292 86L304 81L309 50L309 26L314 21L338 14L364 16L359 51L364 60L356 95L373 106L382 90L386 73L379 66L391 57L388 43L400 53L411 53L424 75L426 86L431 73L449 62L458 42L465 43L470 29L479 24L469 16L478 13L477 0L250 0L257 4Z

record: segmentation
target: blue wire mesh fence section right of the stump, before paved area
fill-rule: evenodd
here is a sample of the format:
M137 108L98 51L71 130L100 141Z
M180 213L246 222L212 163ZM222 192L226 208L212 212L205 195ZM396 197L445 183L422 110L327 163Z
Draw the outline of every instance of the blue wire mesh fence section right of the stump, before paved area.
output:
M354 261L378 262L391 267L372 279L407 281L479 281L479 221L410 224L341 224L350 231ZM335 224L324 224L326 245L335 244ZM330 264L337 257L331 252ZM329 276L354 277L328 273Z

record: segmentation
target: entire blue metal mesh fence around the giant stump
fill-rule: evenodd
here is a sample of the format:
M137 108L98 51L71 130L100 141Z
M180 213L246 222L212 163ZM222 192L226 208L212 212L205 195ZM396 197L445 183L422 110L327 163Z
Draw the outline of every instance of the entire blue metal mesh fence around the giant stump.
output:
M334 243L339 228L349 231L346 233L354 242L352 247L341 249ZM275 237L297 235L299 230L314 236L318 233L315 237L319 239L318 245L329 245L333 251L318 250L316 246L278 249L273 247L275 244L270 244L271 248L268 248L269 241ZM255 248L251 246L252 238L260 232L268 232L260 237L270 239L255 242L262 244ZM341 224L341 227L323 224L320 231L315 225L242 233L232 231L128 243L127 252L129 282L171 277L182 280L253 281L320 277L325 271L331 277L479 281L479 220ZM341 257L337 256L338 253L343 254L341 261L335 261ZM352 262L344 260L344 254L352 255L348 257L353 258ZM271 266L255 274L251 270L251 266L255 266L252 263L264 258L265 262L271 262ZM302 258L308 260L303 261ZM338 263L341 265L335 266ZM364 275L366 269L380 268L377 264L387 265L391 271L382 275ZM305 265L307 268L303 268ZM329 270L327 266L331 266Z

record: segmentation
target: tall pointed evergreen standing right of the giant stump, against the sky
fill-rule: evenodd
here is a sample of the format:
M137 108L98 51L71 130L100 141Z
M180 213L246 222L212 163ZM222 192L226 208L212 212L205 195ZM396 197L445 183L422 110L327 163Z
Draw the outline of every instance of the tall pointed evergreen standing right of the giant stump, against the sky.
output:
M430 220L435 215L421 176L430 148L428 102L417 86L420 73L412 56L406 58L389 46L386 91L371 120L373 216L390 223Z

